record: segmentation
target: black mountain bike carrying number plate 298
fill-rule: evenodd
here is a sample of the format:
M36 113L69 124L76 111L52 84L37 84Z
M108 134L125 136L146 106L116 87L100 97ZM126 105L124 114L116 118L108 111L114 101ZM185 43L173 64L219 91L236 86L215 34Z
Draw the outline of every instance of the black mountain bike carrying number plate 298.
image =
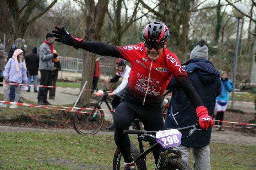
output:
M140 129L139 119L135 119L137 129ZM131 153L134 158L134 163L138 170L146 170L146 155L150 152L162 147L158 164L155 170L192 170L185 160L182 159L180 149L173 149L173 146L180 145L181 133L179 131L190 129L189 134L192 135L194 131L203 130L198 129L199 123L178 129L167 129L163 131L142 131L142 130L124 130L124 134L137 134L139 151L131 143ZM142 141L147 142L149 139L157 141L153 146L144 151ZM113 170L120 170L124 167L124 161L121 152L117 148L114 153Z

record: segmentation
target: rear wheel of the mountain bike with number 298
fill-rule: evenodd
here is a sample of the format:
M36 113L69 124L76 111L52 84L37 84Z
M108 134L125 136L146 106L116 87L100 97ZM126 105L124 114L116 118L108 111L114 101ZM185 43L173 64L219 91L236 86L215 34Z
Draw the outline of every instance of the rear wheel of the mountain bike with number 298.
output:
M131 143L131 153L134 160L138 158L138 156L140 155L138 149L136 148L135 145L133 145L133 143ZM142 161L139 160L136 163L136 166L138 170L142 170ZM119 149L116 148L116 152L114 153L114 159L113 159L113 170L121 170L123 169L123 167L124 167L123 157Z

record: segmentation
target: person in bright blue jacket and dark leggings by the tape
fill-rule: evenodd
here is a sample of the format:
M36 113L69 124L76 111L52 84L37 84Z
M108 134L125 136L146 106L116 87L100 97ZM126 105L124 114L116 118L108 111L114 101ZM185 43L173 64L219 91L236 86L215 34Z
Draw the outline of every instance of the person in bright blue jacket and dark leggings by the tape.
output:
M222 126L222 121L224 118L224 112L226 111L228 102L229 100L229 94L228 92L232 91L233 88L233 83L231 80L227 78L227 73L225 71L222 71L220 74L220 79L221 79L221 85L222 85L222 92L220 95L216 98L216 118L215 120L220 120L220 121L215 121L216 127L219 128L219 130L224 131L224 129L221 127ZM218 101L221 100L221 101Z

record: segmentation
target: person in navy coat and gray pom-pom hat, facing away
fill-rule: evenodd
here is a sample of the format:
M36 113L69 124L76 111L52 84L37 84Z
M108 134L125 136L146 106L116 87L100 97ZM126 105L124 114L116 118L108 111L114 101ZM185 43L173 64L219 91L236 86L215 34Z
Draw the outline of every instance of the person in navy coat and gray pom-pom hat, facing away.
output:
M187 72L188 78L204 106L208 109L209 116L213 117L215 99L221 92L220 73L208 61L208 48L205 44L204 40L199 41L198 46L191 52L190 60L182 64L182 67ZM174 78L171 78L166 89L172 89L172 97L167 111L165 128L183 128L195 124L197 122L196 109ZM195 170L210 170L208 145L211 131L212 128L209 128L208 131L196 131L192 136L189 136L188 130L181 131L183 137L189 136L181 140L182 158L188 162L191 148Z

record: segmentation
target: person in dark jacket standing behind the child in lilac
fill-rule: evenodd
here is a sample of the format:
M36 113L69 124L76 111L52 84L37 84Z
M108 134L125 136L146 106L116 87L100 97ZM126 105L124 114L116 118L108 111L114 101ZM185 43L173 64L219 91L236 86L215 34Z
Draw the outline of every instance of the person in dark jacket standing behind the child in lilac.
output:
M23 51L23 57L25 58L25 56L24 56L24 44L25 44L25 40L22 39L22 38L17 38L15 40L15 44L12 45L10 51L8 52L8 57L7 57L6 63L9 61L10 58L12 58L12 56L14 54L14 51L17 50L17 49L21 49ZM14 86L11 86L11 88L10 88L9 98L10 98L11 102L13 102L15 100L15 88L14 88ZM19 100L18 102L23 103L21 100Z

